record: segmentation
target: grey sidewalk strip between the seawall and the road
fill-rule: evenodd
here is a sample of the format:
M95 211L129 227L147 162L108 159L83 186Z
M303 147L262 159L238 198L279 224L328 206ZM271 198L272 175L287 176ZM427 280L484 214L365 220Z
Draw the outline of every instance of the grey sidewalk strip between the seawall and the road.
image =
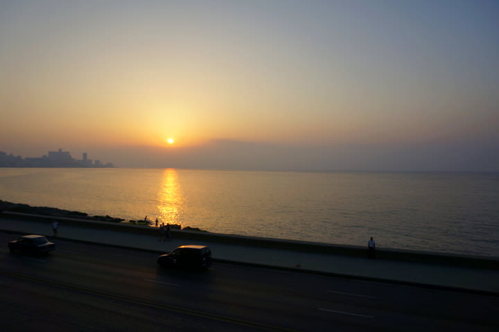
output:
M143 226L137 226L143 227ZM41 234L53 238L51 223L15 218L0 218L0 230L15 233ZM214 241L193 241L170 238L159 241L158 236L125 231L64 225L60 222L58 238L100 243L155 252L170 252L179 245L208 245L213 259L227 263L268 266L318 274L335 275L371 281L406 283L411 286L444 288L499 296L499 270L367 259L356 256L281 250L254 245L237 245ZM173 234L175 236L175 234ZM7 244L5 244L7 245Z

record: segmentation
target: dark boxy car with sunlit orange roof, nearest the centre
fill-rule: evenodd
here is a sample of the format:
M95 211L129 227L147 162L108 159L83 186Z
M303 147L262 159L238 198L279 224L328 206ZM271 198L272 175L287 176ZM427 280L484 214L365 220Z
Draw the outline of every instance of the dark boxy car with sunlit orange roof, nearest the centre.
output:
M211 266L211 250L206 245L181 245L169 254L157 258L161 266L179 268L208 268Z

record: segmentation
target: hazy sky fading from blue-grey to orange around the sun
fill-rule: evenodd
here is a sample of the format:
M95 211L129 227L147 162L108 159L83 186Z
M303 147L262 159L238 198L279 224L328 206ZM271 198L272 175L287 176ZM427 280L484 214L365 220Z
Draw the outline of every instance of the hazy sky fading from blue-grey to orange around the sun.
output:
M499 1L0 0L0 112L23 157L499 171Z

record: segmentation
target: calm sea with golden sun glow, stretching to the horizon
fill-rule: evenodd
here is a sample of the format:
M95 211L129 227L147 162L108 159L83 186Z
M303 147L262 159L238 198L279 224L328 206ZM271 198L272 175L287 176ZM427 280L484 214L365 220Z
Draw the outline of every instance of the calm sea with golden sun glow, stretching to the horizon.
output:
M224 234L499 256L498 173L0 168L0 199Z

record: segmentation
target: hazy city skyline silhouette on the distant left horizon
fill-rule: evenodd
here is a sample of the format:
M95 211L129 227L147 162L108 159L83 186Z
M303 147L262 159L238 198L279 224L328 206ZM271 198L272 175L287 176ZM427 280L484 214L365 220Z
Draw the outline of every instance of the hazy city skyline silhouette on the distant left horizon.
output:
M102 164L100 160L93 162L88 159L87 152L84 152L81 160L73 159L69 151L59 149L57 151L49 151L47 155L42 157L26 157L14 156L12 153L7 155L6 152L0 151L0 167L114 167L112 163Z

